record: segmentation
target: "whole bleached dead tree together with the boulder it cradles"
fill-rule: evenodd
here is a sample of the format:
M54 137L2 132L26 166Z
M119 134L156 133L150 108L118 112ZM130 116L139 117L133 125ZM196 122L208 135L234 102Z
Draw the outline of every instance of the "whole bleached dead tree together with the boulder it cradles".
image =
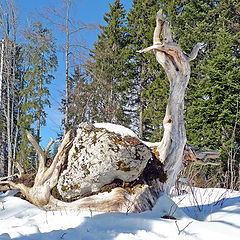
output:
M139 51L154 50L170 82L164 136L155 149L156 156L136 137L123 137L91 124L81 124L76 136L66 134L57 155L47 163L53 141L44 151L28 133L39 155L39 167L32 183L26 184L26 175L19 168L19 179L2 181L0 186L20 190L27 200L44 210L142 212L151 209L161 190L169 192L182 168L186 154L184 93L190 78L189 62L201 46L197 44L190 55L185 54L173 41L160 10L153 46Z

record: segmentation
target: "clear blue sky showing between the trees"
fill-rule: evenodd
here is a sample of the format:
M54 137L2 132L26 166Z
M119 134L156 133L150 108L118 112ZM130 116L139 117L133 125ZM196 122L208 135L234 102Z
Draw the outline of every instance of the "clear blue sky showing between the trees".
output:
M57 6L62 0L15 0L17 12L19 15L19 22L24 27L28 22L37 21L37 12L41 11L44 7ZM79 21L85 23L94 23L96 25L104 24L103 16L105 12L109 12L108 3L113 3L114 0L76 0L73 13ZM125 9L131 7L131 0L121 0ZM37 20L36 20L37 19ZM88 31L83 35L84 40L89 48L93 48L93 43L97 40L98 30ZM51 104L50 109L46 109L48 114L47 124L41 129L42 142L41 145L45 147L50 137L57 138L60 132L62 114L58 111L59 103L61 101L61 94L64 90L64 55L59 53L59 67L55 74L55 80L50 86Z

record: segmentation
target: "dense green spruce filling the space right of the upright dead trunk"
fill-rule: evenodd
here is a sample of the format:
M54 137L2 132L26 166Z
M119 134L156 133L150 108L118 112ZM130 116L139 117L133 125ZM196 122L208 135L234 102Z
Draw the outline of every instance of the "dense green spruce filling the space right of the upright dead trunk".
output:
M206 180L217 171L222 176L227 171L230 177L225 180L232 182L236 171L232 166L233 174L229 174L231 162L235 170L239 164L239 3L176 1L174 11L171 24L181 47L187 52L197 41L207 44L191 66L186 94L188 142L222 152L223 172L204 167Z

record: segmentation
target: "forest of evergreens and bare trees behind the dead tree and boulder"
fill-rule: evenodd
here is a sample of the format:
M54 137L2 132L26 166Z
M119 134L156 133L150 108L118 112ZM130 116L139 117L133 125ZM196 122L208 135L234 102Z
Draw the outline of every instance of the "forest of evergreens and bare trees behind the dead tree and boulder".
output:
M188 163L182 175L197 186L239 190L240 3L133 0L129 7L115 0L91 48L84 35L97 26L81 21L74 1L56 2L39 9L24 25L18 22L13 0L0 5L0 177L14 174L13 163L34 173L38 159L26 130L39 142L46 141L42 128L51 104L58 103L61 112L56 116L62 119L59 138L89 121L121 124L143 140L160 141L169 83L153 53L136 51L152 44L161 6L186 53L197 42L206 44L191 63L185 96L187 138L196 148L221 152L219 165ZM59 68L64 69L62 82L56 82ZM64 86L58 99L50 91L53 81L56 89Z

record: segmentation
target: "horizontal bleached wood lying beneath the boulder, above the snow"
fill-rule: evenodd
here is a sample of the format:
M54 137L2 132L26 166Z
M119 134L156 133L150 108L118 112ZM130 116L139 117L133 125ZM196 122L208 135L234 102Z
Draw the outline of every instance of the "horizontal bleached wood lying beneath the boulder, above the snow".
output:
M44 210L91 210L93 212L140 213L151 210L155 205L162 183L155 181L152 186L143 185L134 193L123 188L114 188L111 192L99 193L74 202L62 202L50 197Z

